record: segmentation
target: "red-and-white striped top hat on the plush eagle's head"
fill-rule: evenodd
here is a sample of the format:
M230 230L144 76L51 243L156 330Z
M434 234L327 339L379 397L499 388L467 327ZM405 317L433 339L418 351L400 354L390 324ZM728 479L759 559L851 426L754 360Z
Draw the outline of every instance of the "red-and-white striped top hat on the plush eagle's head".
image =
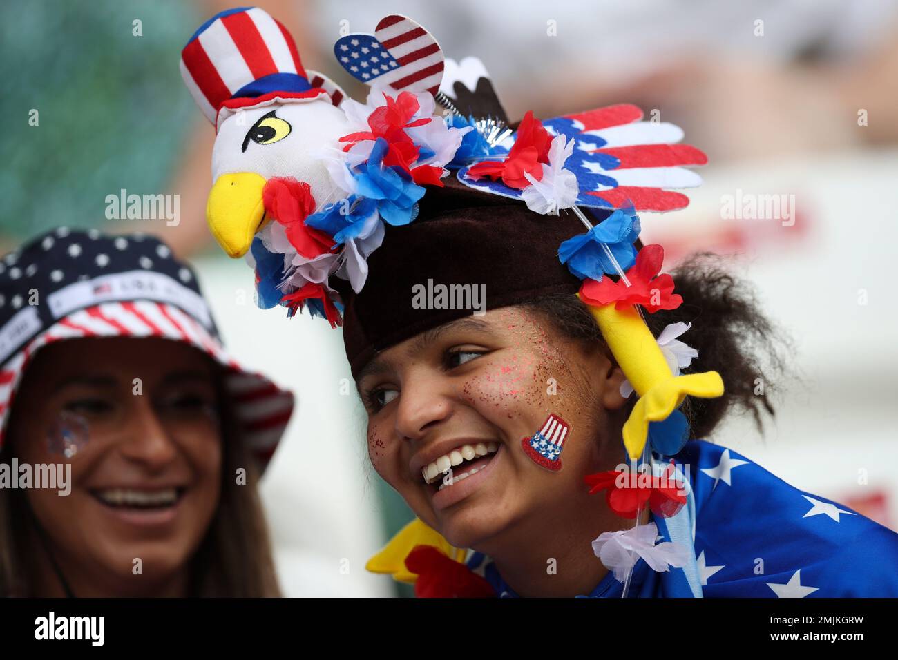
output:
M275 100L339 105L344 98L329 78L305 70L293 37L259 7L229 9L203 23L181 51L180 74L216 129L240 108Z

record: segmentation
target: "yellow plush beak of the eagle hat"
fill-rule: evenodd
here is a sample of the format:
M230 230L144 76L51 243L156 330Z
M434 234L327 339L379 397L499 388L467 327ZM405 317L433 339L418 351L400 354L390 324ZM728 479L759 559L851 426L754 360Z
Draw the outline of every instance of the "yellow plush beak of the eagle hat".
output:
M206 204L209 230L229 257L249 251L252 237L265 217L262 189L266 180L255 172L222 174Z

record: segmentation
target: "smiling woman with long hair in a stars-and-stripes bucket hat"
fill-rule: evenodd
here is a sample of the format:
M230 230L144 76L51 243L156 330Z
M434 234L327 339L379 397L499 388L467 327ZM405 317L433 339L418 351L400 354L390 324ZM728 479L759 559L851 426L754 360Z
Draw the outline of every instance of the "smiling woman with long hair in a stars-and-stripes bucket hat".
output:
M40 294L4 344L0 461L70 470L65 496L0 489L0 593L278 595L257 485L293 398L225 355L192 271L150 238L60 230L0 285ZM22 311L0 312L8 337Z

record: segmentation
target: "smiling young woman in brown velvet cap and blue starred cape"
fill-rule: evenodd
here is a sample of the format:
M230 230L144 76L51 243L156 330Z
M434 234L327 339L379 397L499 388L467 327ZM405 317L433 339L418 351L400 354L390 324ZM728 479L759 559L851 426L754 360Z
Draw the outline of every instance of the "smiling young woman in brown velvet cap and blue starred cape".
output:
M387 228L360 293L336 280L368 453L417 516L368 568L437 596L898 594L882 564L855 562L838 577L821 568L892 556L894 532L705 440L729 412L760 427L786 364L752 291L714 255L675 268L684 302L640 322L674 375L713 370L724 392L681 400L682 430L650 426L652 471L627 487L621 436L640 373L625 374L613 330L559 262L556 246L577 224L447 182L427 192L414 224ZM638 266L628 275L638 286ZM486 285L489 311L409 304L428 278ZM674 339L684 331L689 346ZM827 515L807 516L812 500ZM821 519L839 512L851 530Z

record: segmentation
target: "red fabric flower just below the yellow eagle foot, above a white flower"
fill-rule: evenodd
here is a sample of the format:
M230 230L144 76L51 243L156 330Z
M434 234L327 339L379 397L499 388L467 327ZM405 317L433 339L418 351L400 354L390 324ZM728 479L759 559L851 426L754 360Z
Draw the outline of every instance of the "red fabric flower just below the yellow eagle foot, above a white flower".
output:
M655 515L662 518L678 514L686 503L682 492L684 485L674 478L673 461L661 477L638 471L606 471L587 474L585 481L590 487L590 495L607 489L605 500L608 508L621 518L630 520L636 518L639 507L646 503Z

